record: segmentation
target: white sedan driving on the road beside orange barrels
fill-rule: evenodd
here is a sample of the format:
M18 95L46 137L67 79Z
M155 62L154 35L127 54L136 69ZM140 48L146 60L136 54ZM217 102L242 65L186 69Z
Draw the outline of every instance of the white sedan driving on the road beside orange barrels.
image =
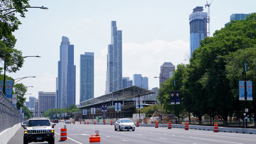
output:
M130 120L130 119L126 119L126 118L121 118L118 119L115 123L115 131L117 131L117 129L119 129L119 131L122 130L135 130L135 126L134 123Z

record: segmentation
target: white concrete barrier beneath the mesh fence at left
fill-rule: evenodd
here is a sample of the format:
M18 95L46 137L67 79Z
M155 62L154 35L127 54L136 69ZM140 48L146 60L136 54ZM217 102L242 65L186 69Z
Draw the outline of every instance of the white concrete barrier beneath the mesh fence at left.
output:
M0 133L0 144L7 144L8 141L15 135L17 130L20 128L21 123L14 125L13 127L7 128Z

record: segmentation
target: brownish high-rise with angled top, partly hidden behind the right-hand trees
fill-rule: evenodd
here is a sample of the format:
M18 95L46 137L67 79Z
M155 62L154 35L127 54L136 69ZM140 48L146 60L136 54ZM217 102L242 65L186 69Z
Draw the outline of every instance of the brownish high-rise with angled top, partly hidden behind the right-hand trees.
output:
M161 83L165 82L164 78L170 78L170 72L174 71L175 66L171 62L164 62L162 66L160 66L160 75L159 75L159 85L161 87Z

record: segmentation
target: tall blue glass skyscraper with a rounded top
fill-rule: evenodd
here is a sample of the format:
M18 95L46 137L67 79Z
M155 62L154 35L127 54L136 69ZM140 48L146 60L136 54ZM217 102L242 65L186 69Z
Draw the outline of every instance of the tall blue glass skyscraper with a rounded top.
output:
M58 93L56 97L56 108L66 108L75 104L76 94L76 66L74 65L74 45L69 38L63 36L59 46L58 61Z

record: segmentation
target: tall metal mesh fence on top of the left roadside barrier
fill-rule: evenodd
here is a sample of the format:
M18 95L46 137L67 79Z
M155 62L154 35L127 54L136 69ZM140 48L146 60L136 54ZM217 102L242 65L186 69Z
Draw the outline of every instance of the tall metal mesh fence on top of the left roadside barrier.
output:
M24 117L0 90L0 132L24 122Z

